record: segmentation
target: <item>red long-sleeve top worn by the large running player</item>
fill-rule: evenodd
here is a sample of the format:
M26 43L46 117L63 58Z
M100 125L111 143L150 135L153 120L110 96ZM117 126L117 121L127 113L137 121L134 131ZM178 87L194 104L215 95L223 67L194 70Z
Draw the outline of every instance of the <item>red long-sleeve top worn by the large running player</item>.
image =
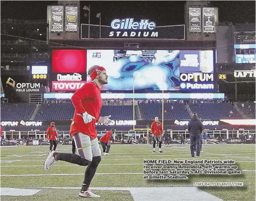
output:
M71 100L75 113L70 126L70 134L73 136L77 132L82 132L82 134L89 135L92 140L95 139L97 136L95 123L99 119L100 109L102 108L100 88L94 82L86 83L82 88L74 92ZM82 117L85 112L95 117L95 119L85 123Z

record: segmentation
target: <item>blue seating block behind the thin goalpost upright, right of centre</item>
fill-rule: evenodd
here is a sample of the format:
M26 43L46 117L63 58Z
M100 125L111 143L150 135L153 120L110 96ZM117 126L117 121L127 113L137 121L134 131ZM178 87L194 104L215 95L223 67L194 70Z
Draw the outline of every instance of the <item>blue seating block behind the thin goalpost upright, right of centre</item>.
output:
M142 119L154 119L156 116L162 119L162 103L141 103L139 108ZM165 102L163 108L165 119L190 119L184 104Z

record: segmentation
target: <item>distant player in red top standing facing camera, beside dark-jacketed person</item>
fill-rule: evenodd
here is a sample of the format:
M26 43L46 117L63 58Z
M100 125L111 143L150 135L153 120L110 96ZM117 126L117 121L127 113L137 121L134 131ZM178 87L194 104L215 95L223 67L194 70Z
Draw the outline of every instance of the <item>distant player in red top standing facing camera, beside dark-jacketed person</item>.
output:
M158 117L154 118L155 121L151 125L151 132L153 138L153 153L156 153L156 141L159 142L159 153L162 152L162 134L163 134L163 126L162 123L158 120Z

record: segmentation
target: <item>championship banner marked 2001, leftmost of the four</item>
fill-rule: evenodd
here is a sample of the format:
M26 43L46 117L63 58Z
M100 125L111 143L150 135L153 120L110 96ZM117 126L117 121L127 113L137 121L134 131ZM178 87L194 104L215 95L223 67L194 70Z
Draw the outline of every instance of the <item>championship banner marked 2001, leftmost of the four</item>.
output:
M51 32L63 32L63 6L52 6Z

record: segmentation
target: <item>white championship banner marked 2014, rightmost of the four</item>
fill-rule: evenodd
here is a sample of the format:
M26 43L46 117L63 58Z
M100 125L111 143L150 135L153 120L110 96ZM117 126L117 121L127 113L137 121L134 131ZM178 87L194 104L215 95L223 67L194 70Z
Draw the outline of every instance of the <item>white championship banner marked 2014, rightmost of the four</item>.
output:
M215 32L214 8L203 8L203 32Z

